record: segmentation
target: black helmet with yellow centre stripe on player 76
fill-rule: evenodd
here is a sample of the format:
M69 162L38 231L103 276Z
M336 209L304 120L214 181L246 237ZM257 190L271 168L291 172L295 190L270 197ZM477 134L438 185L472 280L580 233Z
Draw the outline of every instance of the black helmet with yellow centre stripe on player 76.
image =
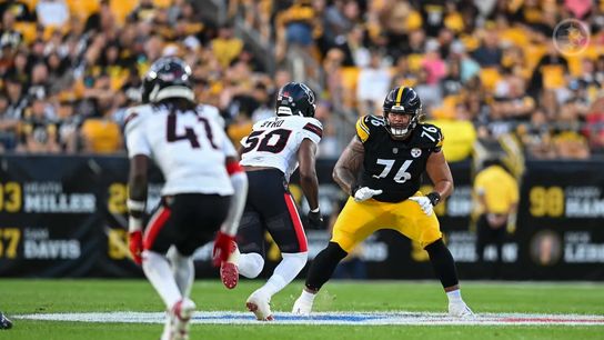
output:
M406 87L397 87L390 90L384 99L383 109L385 128L392 138L395 139L406 138L423 117L420 96L417 96L415 90ZM406 127L393 127L387 119L390 113L411 114L411 120Z

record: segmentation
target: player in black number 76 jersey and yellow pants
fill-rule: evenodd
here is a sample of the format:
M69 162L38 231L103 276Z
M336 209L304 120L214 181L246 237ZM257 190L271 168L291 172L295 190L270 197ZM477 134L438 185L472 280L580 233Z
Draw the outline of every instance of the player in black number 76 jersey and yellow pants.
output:
M315 294L338 263L371 233L387 228L427 251L449 297L449 313L471 317L460 293L455 262L433 212L434 206L453 191L451 170L441 150L441 130L420 122L422 102L412 88L391 90L383 111L383 117L359 119L356 136L335 164L333 179L351 197L335 221L328 247L309 269L293 312L309 314ZM424 171L434 183L434 191L425 196L419 191Z

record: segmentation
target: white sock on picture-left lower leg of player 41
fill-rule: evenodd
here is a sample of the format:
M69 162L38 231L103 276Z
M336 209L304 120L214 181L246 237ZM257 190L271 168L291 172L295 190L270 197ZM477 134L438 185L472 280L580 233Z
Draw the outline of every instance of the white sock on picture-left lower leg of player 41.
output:
M182 299L170 263L164 256L151 250L144 250L142 252L142 270L149 282L160 294L167 309L171 309L174 303Z

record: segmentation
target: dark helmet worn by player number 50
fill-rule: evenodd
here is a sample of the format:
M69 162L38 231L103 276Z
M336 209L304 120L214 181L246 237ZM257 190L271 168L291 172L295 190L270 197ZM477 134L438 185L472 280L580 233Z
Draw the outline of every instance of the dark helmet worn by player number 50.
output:
M276 94L276 116L314 117L314 92L302 82L288 82Z

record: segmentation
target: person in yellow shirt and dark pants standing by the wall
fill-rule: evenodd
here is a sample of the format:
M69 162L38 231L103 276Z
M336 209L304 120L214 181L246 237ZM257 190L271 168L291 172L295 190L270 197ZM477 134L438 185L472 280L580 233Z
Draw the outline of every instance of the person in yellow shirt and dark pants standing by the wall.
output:
M474 198L479 211L476 223L476 258L481 272L497 279L503 263L503 243L507 226L515 223L519 203L519 183L503 166L501 158L487 159L474 178ZM495 266L485 266L484 249L495 244Z

